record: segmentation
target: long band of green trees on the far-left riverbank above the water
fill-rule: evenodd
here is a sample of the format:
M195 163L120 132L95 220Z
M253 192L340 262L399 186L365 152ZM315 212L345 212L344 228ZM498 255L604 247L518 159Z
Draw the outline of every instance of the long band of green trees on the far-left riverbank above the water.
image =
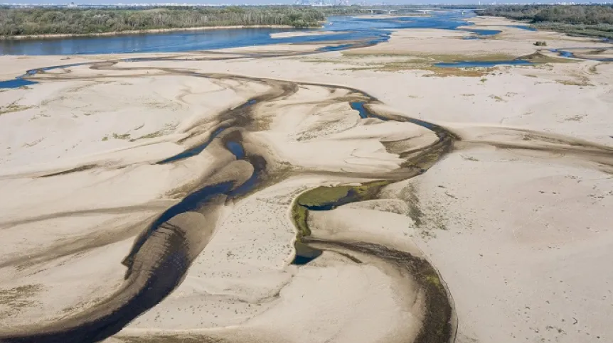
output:
M0 9L0 36L92 34L159 28L284 25L319 26L328 15L356 7L311 6L159 7L148 9Z

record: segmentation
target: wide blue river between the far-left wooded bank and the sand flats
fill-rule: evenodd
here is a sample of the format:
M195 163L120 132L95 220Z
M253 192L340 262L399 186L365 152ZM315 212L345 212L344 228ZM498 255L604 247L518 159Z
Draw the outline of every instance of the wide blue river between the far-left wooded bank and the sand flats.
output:
M57 39L1 40L0 55L79 55L106 53L160 53L194 50L238 48L250 45L275 43L317 43L336 44L326 51L351 48L356 41L379 43L389 39L393 28L441 28L455 30L469 25L457 11L436 13L432 17L406 18L353 18L333 16L320 31L334 31L333 34L271 38L271 33L304 31L287 28L240 28L206 31L176 31L167 33L142 33L120 36L69 37ZM317 30L315 30L317 31ZM475 31L476 32L476 31ZM478 33L479 34L479 33ZM486 33L483 33L486 34Z

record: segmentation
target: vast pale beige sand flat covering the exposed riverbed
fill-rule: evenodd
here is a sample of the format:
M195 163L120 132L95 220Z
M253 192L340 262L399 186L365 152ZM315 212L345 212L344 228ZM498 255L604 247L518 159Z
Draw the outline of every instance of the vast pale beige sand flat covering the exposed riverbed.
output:
M167 298L105 342L413 342L432 299L402 263L375 254L381 247L437 269L455 342L611 342L613 65L554 60L473 77L427 66L529 55L535 40L604 46L474 22L503 33L402 30L373 47L302 56L291 54L316 45L148 62L0 56L3 79L99 62L0 92L0 342L54 323L82 327L146 292L146 276L190 263ZM249 58L213 60L241 53ZM257 102L242 110L247 99ZM398 120L360 119L348 104L360 100ZM442 138L407 117L442 126L452 150L416 158ZM156 164L224 125L201 153ZM228 150L233 139L245 158ZM411 178L419 168L430 169ZM135 244L191 192L236 189L254 170L256 188L190 207ZM324 241L312 245L324 253L289 264L301 192L383 179L398 182L310 211L311 238ZM187 262L166 268L159 261L173 249Z

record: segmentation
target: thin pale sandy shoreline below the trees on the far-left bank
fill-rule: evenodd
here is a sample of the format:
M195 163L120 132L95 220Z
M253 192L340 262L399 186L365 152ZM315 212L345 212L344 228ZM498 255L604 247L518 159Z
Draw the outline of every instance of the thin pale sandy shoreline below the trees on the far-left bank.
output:
M68 37L99 37L99 36L123 36L134 35L141 33L166 33L175 31L207 31L207 30L223 30L236 28L294 28L291 25L233 25L233 26L196 26L191 28L148 28L146 30L129 30L129 31L112 31L101 33L50 33L43 35L19 35L19 36L0 36L0 40L26 40L26 39L53 39L53 38L68 38ZM307 29L321 27L306 27Z

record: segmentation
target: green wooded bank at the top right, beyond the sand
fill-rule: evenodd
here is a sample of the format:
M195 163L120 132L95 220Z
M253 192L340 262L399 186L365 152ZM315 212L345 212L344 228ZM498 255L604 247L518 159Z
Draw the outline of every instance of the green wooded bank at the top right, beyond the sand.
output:
M613 38L613 5L491 6L481 14L530 21L535 28L571 35Z

